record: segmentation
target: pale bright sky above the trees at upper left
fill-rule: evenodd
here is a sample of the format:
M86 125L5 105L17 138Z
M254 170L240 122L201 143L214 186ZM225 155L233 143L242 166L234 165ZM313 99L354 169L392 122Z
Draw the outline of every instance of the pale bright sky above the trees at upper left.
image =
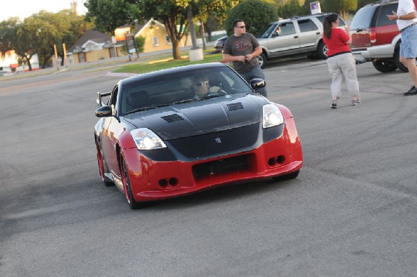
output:
M71 8L72 0L0 0L0 22L9 17L19 17L21 20L30 17L40 10L58 12ZM77 13L84 15L87 11L84 7L85 0L76 0Z

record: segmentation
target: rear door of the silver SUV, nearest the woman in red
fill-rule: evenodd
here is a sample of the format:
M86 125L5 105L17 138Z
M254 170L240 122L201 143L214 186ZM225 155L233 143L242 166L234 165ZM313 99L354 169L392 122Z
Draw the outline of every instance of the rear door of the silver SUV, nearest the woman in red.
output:
M318 24L312 19L298 19L297 25L300 29L300 53L315 51L316 42L322 33Z

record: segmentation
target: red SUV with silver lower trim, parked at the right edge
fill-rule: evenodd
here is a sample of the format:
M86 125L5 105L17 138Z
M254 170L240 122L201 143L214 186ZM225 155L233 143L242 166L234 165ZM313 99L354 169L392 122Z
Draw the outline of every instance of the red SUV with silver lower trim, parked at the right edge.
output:
M417 0L414 0L417 6ZM379 72L400 69L408 72L400 62L401 33L397 22L386 15L397 11L398 1L378 1L359 9L350 24L352 53L357 62L372 61Z

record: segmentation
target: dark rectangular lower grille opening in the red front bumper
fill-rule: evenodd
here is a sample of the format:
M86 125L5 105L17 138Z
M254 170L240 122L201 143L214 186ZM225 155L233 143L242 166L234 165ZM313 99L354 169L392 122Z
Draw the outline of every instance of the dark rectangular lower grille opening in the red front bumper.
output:
M204 162L193 166L193 176L195 179L225 174L229 172L244 171L249 168L250 155L242 155L222 160Z

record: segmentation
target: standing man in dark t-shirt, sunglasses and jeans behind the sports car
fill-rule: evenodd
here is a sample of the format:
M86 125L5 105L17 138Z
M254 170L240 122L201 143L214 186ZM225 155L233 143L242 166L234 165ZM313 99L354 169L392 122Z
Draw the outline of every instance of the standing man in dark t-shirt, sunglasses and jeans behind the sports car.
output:
M227 38L223 47L223 60L232 62L233 68L242 76L247 83L253 78L265 80L265 75L259 66L258 57L262 53L256 37L246 33L245 22L236 19L233 22L234 34ZM258 90L266 97L266 89L263 87Z

